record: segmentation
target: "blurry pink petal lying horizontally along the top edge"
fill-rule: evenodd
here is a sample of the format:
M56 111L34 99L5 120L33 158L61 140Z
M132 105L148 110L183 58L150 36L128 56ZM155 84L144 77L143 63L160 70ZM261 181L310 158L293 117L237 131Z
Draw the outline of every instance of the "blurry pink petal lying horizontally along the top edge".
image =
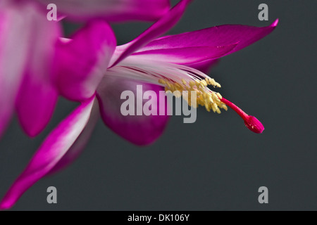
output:
M168 0L35 0L75 20L102 18L108 21L157 20L169 7Z

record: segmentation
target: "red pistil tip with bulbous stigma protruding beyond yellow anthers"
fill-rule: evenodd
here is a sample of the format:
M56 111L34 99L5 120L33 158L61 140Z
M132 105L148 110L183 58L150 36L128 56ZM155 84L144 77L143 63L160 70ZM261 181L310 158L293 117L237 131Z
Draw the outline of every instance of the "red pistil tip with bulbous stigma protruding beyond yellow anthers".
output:
M237 105L233 104L225 98L221 98L221 101L232 108L232 110L235 110L235 112L240 115L240 117L242 117L245 126L249 130L253 131L256 134L261 134L263 132L264 126L258 119L256 119L256 117L252 115L247 115L247 113L244 113L244 111L237 107Z

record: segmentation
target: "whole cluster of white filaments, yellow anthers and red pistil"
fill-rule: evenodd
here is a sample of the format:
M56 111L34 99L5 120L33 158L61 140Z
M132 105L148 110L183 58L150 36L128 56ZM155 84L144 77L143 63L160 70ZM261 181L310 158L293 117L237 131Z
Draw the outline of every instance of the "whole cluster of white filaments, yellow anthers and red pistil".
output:
M151 63L147 61L140 63L139 61L128 60L127 58L116 65L116 67L108 69L106 75L128 77L129 79L137 79L141 82L165 86L166 92L176 94L178 98L182 96L189 106L192 104L191 91L196 91L197 103L196 105L192 105L195 108L201 105L209 112L213 110L213 113L221 113L220 108L228 110L228 105L242 117L245 125L251 131L259 134L264 130L263 125L256 117L247 115L237 105L223 98L216 91L211 91L208 85L214 87L221 87L221 85L194 68L170 63ZM188 94L183 91L188 91Z

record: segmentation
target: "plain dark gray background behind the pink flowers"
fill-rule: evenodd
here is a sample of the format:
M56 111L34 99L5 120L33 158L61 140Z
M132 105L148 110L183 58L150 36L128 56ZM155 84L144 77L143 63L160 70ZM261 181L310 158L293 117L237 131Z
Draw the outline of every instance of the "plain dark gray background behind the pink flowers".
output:
M269 6L268 22L258 20L261 3ZM81 157L35 184L13 210L317 210L316 6L196 0L170 31L265 26L280 18L273 34L226 56L211 72L223 96L263 122L263 134L246 129L232 110L216 115L199 108L196 123L172 117L159 141L139 148L100 121ZM148 26L113 27L124 44ZM0 196L75 105L61 99L49 127L33 140L12 122L0 142ZM46 203L49 186L58 189L57 205ZM268 187L268 205L258 203L260 186Z

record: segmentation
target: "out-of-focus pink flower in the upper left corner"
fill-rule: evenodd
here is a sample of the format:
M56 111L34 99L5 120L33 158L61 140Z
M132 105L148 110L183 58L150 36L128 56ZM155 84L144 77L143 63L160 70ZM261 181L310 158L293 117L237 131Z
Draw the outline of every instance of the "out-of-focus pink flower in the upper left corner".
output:
M169 8L168 0L1 0L0 136L15 109L29 136L37 136L54 111L55 44L61 27L46 19L51 3L73 20L156 20Z

